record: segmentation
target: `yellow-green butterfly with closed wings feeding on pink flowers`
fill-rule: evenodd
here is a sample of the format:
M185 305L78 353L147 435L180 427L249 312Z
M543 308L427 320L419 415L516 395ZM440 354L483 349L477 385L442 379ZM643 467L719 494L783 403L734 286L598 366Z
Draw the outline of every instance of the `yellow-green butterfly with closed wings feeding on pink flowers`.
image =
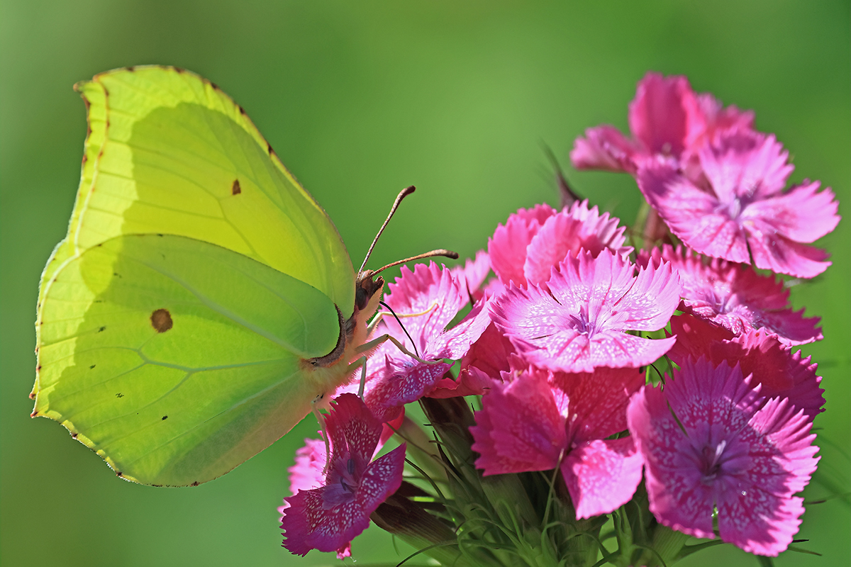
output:
M76 85L89 112L44 269L33 416L119 476L197 485L345 383L384 281L213 83L173 67Z

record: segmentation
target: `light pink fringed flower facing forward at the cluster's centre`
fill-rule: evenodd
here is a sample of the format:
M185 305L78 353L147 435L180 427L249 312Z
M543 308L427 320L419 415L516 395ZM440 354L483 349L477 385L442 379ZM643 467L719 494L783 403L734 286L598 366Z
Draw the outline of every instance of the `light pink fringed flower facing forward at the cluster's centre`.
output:
M650 364L674 338L650 340L626 331L656 331L671 319L680 284L671 267L639 269L603 250L568 256L549 281L509 287L491 308L496 326L531 364L551 371L591 372Z

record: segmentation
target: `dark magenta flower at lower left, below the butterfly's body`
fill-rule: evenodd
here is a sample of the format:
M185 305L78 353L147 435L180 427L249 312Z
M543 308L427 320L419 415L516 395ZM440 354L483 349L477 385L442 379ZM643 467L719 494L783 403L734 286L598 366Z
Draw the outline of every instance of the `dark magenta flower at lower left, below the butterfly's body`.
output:
M324 485L299 490L283 510L283 547L296 555L318 549L346 557L352 538L369 525L369 514L402 484L405 445L372 461L381 422L354 394L335 402L325 419L331 459Z

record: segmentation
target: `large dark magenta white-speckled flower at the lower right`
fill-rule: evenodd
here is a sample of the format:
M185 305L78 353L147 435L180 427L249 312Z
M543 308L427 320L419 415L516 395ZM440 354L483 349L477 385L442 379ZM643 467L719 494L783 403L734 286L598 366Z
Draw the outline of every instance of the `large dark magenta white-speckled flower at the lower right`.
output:
M633 396L627 419L660 523L712 538L717 508L723 541L759 555L789 546L803 513L793 495L819 459L811 419L788 400L766 402L738 366L688 360L664 390Z

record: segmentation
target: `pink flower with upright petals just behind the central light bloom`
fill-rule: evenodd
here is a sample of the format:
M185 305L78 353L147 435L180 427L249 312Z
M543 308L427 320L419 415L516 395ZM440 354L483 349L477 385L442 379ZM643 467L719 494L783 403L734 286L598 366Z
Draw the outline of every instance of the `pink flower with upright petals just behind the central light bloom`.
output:
M574 202L559 213L545 206L521 209L488 241L494 272L506 286L513 281L525 287L549 280L553 266L568 254L585 250L596 258L609 249L625 257L632 247L624 246L625 227L619 222L608 213L600 214L597 207L588 208L588 201Z

